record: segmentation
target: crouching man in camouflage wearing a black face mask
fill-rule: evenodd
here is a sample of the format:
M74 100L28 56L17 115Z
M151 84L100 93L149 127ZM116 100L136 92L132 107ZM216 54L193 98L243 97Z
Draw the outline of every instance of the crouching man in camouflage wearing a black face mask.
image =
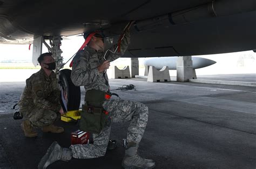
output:
M60 90L55 73L52 53L43 53L37 59L41 70L26 79L26 86L19 101L19 110L25 120L22 130L26 137L36 137L35 128L43 132L62 133L64 129L53 125L57 113L63 114L59 103Z

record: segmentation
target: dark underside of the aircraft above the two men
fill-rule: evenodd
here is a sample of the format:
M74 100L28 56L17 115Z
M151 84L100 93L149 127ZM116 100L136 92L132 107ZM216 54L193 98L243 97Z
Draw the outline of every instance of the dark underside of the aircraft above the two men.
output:
M256 49L255 0L0 0L0 43L104 30L115 42L127 22L124 57L207 55Z

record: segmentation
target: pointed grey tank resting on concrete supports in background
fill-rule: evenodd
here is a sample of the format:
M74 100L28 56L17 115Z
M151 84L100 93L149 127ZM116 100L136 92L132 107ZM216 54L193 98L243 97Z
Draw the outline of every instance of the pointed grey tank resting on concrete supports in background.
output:
M152 58L149 60L145 60L143 62L144 66L154 66L156 69L160 70L163 66L168 66L169 70L176 70L176 62L178 57L159 57L159 58ZM193 61L193 69L199 69L206 66L210 66L215 64L214 60L200 58L200 57L192 57Z

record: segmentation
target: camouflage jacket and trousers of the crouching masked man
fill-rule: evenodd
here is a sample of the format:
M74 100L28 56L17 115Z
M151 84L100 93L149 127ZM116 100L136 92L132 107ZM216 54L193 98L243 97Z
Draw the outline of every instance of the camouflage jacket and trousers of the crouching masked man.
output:
M19 110L34 127L52 124L60 110L60 90L55 73L48 77L43 69L26 79Z

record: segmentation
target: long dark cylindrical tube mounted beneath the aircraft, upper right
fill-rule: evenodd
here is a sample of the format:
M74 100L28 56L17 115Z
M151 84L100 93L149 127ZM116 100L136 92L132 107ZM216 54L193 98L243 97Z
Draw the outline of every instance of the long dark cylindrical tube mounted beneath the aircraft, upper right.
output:
M245 2L246 1L246 2ZM196 6L166 15L145 19L134 24L134 28L141 32L171 25L185 24L208 19L212 17L222 17L235 15L242 12L256 10L255 0L227 0L212 1L211 3Z

